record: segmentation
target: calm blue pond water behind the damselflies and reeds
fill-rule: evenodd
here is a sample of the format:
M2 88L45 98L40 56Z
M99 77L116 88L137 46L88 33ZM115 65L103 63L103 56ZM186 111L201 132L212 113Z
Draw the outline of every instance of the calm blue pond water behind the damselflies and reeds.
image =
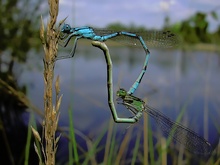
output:
M128 47L109 47L113 62L114 99L119 88L128 90L139 75L145 54ZM59 52L65 54L67 52ZM43 109L43 71L40 58L31 58L20 83L29 86L28 96ZM36 66L36 68L33 68ZM40 69L39 69L40 68ZM73 111L74 128L90 138L96 138L112 120L107 100L106 63L101 50L78 44L74 58L57 61L55 77L60 76L60 126L68 127L68 109ZM215 52L151 50L147 72L134 93L163 114L176 120L184 111L181 123L210 143L219 139L220 118L220 55ZM121 117L131 113L115 103ZM151 120L150 120L151 121ZM143 126L143 119L137 124ZM151 121L153 129L156 122ZM129 124L114 124L121 135ZM133 126L132 126L133 127ZM217 128L218 127L218 128ZM82 141L77 138L78 143ZM135 141L135 139L134 139ZM103 140L103 145L105 144ZM84 145L84 144L82 144ZM129 146L134 147L134 146ZM61 141L58 155L68 160L68 144Z

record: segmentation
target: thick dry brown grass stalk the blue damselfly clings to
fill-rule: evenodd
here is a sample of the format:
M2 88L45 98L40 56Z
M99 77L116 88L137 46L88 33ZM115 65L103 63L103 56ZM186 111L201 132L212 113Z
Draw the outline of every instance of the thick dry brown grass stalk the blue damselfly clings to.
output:
M57 150L57 143L59 137L55 137L59 120L59 107L61 98L59 97L59 77L56 80L56 104L53 107L52 102L52 87L54 78L54 66L55 58L58 50L59 30L55 28L59 0L48 0L49 2L49 14L50 20L47 24L46 33L44 30L44 24L41 20L40 38L43 44L45 57L44 57L44 125L43 125L43 138L45 140L45 146L42 147L44 154L44 161L46 165L55 165L55 154ZM46 35L45 35L46 34Z

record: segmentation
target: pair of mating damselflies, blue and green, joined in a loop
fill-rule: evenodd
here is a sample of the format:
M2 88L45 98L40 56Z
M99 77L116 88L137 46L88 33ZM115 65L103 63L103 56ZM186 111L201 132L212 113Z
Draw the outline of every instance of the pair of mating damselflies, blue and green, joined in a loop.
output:
M177 141L185 146L185 148L193 153L196 154L209 154L212 151L212 147L208 141L204 138L197 135L195 132L178 124L174 121L171 121L168 117L164 114L160 113L156 109L150 108L149 106L145 105L143 100L133 96L132 94L138 88L142 77L144 76L147 64L149 61L150 51L147 47L147 43L154 43L156 46L158 44L159 47L170 47L175 45L178 42L178 37L172 34L171 32L146 32L146 33L132 33L132 32L110 32L110 31L103 31L103 30L96 30L91 27L79 27L79 28L72 28L68 24L64 24L63 28L61 29L62 35L60 36L61 43L64 47L66 47L72 37L76 37L72 51L67 56L60 56L57 58L65 59L71 58L75 54L77 40L81 38L90 39L92 40L92 44L96 47L99 47L103 50L106 64L107 64L107 89L108 89L108 103L110 110L112 112L112 116L115 122L118 123L135 123L139 121L142 116L143 112L147 112L150 116L152 116L160 126L161 130L172 137L174 141ZM140 35L142 34L142 35ZM121 104L123 104L128 110L130 110L134 116L131 118L120 118L118 117L114 101L113 101L113 83L112 83L112 61L111 56L109 54L109 50L107 46L102 43L108 39L116 39L117 37L123 36L125 38L129 38L129 42L134 45L138 43L143 47L145 51L145 61L141 73L139 74L138 78L131 86L129 91L119 89L117 92L117 96L121 99ZM148 40L149 39L149 40ZM64 40L64 41L63 41ZM145 42L146 40L146 42ZM155 42L154 42L155 41Z

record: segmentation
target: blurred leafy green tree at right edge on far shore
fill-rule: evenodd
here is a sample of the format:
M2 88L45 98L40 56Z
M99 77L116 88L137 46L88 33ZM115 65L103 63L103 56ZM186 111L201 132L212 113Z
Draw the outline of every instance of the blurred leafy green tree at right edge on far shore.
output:
M209 32L209 22L207 17L211 16L212 19L218 21L218 15L215 11L209 13L197 12L190 18L169 25L169 18L165 19L164 29L170 29L181 36L183 42L195 44L195 43L220 43L220 25L215 32Z

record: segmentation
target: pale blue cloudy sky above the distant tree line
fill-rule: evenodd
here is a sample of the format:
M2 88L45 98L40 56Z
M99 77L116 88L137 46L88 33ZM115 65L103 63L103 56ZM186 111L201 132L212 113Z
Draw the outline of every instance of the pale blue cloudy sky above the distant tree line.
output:
M58 19L68 16L66 23L73 27L105 27L120 22L160 29L165 16L176 23L198 11L209 13L215 8L220 17L220 0L60 0ZM220 25L210 15L208 20L210 31Z

